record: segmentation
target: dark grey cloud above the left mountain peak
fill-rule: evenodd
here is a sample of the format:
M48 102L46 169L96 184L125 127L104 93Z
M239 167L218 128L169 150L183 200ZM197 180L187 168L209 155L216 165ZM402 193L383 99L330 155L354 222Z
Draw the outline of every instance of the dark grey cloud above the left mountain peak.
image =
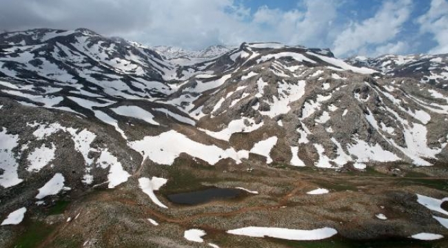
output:
M14 0L2 1L0 30L30 28L90 28L102 34L123 34L150 22L149 1L132 4L117 0Z

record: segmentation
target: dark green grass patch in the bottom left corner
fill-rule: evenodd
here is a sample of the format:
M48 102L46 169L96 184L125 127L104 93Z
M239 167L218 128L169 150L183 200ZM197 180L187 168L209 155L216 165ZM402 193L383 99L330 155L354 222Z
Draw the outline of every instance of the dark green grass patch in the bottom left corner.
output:
M52 233L54 226L46 225L41 221L32 221L26 224L26 230L17 237L12 247L14 248L34 248Z

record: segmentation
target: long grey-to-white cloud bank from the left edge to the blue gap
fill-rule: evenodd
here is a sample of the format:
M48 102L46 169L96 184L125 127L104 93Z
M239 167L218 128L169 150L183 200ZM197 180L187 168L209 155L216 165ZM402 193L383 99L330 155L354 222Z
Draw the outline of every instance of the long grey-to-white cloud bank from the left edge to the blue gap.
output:
M336 17L334 0L301 0L292 10L261 6L252 14L234 0L14 0L2 3L0 30L83 27L193 49L244 41L318 46Z

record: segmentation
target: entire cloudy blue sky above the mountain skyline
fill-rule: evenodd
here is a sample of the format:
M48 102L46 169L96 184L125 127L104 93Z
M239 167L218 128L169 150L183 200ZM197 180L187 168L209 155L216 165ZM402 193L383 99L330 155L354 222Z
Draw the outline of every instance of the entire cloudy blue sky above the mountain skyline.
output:
M14 0L0 30L90 28L147 45L243 41L352 55L448 53L448 0Z

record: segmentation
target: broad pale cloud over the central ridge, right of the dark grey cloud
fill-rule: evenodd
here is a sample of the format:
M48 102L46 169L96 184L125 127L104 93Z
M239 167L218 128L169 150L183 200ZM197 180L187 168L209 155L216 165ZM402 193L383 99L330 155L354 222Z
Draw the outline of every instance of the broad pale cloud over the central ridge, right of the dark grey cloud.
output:
M186 48L252 41L327 45L338 7L333 0L304 0L301 1L303 11L261 6L251 15L247 8L236 6L232 0L158 0L151 3L152 21L134 37L152 45Z

